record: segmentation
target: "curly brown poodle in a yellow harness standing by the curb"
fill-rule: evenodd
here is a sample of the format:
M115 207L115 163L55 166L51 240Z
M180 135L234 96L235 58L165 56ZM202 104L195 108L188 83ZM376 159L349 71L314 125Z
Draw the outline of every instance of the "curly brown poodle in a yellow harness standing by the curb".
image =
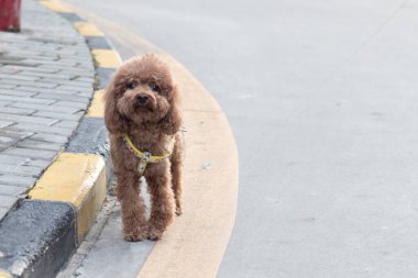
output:
M120 66L105 94L105 122L127 241L158 240L174 213L182 214L180 93L155 55ZM140 179L151 194L145 219Z

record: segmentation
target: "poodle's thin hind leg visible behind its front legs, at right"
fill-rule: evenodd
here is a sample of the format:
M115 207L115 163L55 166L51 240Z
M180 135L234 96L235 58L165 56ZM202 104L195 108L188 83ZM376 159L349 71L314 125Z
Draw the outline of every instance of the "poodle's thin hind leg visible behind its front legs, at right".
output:
M172 184L174 198L176 200L176 214L182 214L182 191L183 191L183 140L177 134L172 154Z

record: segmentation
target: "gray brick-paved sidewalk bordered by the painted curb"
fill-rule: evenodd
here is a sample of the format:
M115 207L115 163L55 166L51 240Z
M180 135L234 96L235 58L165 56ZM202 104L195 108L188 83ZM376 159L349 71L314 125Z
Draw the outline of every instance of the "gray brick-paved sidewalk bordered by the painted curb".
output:
M63 149L94 90L91 55L68 21L26 0L22 26L0 32L0 220Z

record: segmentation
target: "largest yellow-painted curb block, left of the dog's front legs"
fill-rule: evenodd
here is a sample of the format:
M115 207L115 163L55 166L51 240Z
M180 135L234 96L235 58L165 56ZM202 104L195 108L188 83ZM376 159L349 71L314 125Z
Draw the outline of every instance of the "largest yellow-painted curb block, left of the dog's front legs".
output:
M58 154L29 192L31 199L73 203L79 242L94 223L105 197L105 159L92 154Z

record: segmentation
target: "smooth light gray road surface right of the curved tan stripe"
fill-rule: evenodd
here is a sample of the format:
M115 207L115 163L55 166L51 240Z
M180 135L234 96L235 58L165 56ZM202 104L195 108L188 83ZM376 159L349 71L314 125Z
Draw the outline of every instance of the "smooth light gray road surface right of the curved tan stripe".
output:
M170 53L229 116L219 277L418 276L418 1L69 2Z

